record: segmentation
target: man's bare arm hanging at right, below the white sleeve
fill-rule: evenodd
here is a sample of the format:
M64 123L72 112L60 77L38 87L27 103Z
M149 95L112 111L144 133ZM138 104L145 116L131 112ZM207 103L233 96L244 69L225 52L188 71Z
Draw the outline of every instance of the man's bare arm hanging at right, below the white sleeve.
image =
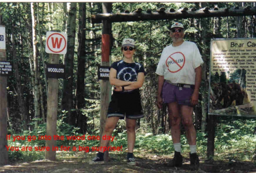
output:
M190 103L194 106L198 104L198 93L199 93L199 88L200 84L202 81L202 67L201 65L195 69L196 72L196 79L195 79L195 89L194 92L191 96Z

